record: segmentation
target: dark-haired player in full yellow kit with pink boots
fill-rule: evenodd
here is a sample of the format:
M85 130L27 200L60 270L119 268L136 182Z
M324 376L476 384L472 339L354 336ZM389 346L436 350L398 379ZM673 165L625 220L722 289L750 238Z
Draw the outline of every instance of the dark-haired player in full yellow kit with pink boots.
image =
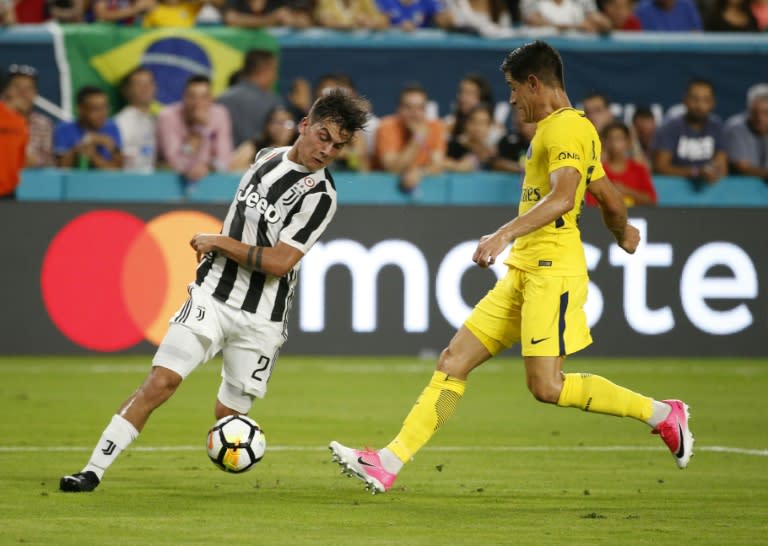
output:
M488 267L514 242L504 262L509 272L442 351L394 440L378 451L331 442L334 460L373 493L392 487L403 465L453 414L469 373L518 342L528 388L537 400L643 421L661 436L680 468L692 455L688 406L680 400L657 401L597 375L562 371L566 356L592 342L583 310L589 279L577 223L584 192L598 200L605 225L622 249L634 253L640 235L627 223L621 195L605 176L594 126L571 107L559 53L532 42L507 55L501 70L510 103L526 122L538 125L526 158L519 214L483 236L472 259Z

